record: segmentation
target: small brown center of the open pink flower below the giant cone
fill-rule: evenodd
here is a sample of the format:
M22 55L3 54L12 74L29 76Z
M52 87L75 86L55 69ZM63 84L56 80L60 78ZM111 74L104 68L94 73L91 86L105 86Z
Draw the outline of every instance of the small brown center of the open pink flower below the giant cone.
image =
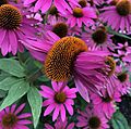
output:
M64 103L66 102L66 99L67 99L67 95L66 95L66 93L63 93L63 92L59 92L59 93L56 93L55 94L55 101L57 102L57 103Z

